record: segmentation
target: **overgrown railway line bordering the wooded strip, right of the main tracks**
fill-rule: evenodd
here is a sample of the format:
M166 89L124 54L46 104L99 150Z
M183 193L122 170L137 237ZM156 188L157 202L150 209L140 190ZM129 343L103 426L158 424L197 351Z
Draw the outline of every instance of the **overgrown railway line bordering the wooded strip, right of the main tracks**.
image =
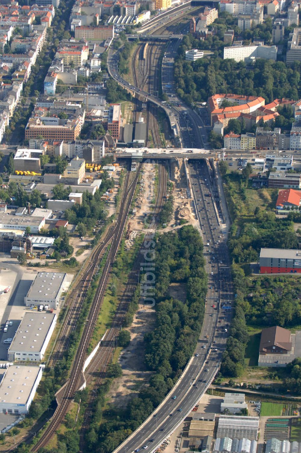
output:
M148 241L151 236L153 236L154 232L157 229L158 226L158 214L162 208L165 196L167 192L167 173L164 165L161 163L159 164L159 185L158 185L158 194L157 194L157 199L156 199L156 204L154 207L153 211L153 218L152 221L150 222L150 225L148 226L148 230L145 235L145 241ZM143 253L144 253L144 246L143 246ZM94 374L97 372L98 376L96 378L96 381L93 385L93 389L90 392L89 395L89 401L87 408L89 410L86 410L85 416L84 416L84 421L82 424L82 429L81 429L81 440L80 440L80 451L84 451L84 445L85 445L85 434L87 428L90 426L90 421L91 421L91 408L93 406L94 400L96 398L96 390L99 388L101 385L103 379L105 378L105 371L107 368L107 365L110 361L112 352L114 351L115 348L115 338L118 337L118 334L120 332L120 328L123 325L124 322L124 316L127 313L127 308L129 305L130 300L133 297L134 291L136 289L137 284L139 283L139 270L141 266L141 262L143 262L143 253L140 251L139 254L137 255L133 269L129 273L129 278L126 284L126 287L124 289L124 292L122 294L122 297L120 299L118 308L115 312L115 316L111 325L111 328L108 330L108 332L105 335L105 338L100 345L100 348L98 349L95 357L92 359L90 365L87 368L87 373Z

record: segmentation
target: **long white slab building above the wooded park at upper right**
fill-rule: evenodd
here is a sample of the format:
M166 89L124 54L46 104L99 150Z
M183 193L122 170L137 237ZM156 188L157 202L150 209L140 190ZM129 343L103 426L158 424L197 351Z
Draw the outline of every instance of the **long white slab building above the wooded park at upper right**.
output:
M224 60L230 58L236 62L263 58L277 60L277 47L264 45L231 46L224 48Z

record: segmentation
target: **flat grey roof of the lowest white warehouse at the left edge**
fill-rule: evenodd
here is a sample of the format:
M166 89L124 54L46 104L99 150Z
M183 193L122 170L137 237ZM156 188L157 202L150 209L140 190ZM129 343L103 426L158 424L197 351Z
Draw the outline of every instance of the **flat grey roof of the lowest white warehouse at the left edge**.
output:
M39 366L9 366L0 383L0 402L26 404L39 371Z

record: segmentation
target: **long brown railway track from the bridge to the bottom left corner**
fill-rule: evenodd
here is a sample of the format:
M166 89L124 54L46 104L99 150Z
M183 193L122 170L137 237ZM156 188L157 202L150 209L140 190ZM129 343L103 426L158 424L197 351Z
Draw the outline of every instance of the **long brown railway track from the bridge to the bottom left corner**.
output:
M102 297L105 292L110 269L111 269L112 264L114 263L116 253L119 248L119 243L121 241L121 237L122 237L122 234L124 231L124 225L125 225L128 213L129 213L130 204L132 202L135 187L136 187L136 184L138 181L140 168L141 168L141 164L140 164L139 168L137 169L137 173L135 175L134 180L131 183L129 183L130 173L127 173L127 175L126 175L124 193L123 193L122 202L121 202L121 209L119 212L117 225L114 228L114 234L111 238L112 244L111 244L108 256L106 258L106 263L105 263L105 267L103 269L103 273L100 277L99 286L97 288L95 297L91 304L89 314L87 316L87 322L84 327L84 332L82 334L82 337L81 337L81 340L79 343L79 347L77 349L76 359L74 360L74 362L72 364L72 368L70 371L69 379L67 381L67 385L64 387L62 400L61 400L60 404L58 404L57 409L55 410L55 412L53 414L53 418L51 419L50 424L48 425L47 429L43 433L41 439L39 439L38 443L32 448L32 450L31 450L32 452L37 452L39 448L42 448L51 439L51 437L57 430L59 424L62 422L62 419L64 418L64 416L67 412L67 409L69 407L70 402L73 399L75 392L78 390L79 382L82 377L83 364L86 359L86 350L87 350L87 347L89 346L91 335L93 333L93 329L94 329L94 326L95 326L95 323L96 323L96 320L98 317L98 313L99 313L99 309L101 306ZM91 265L89 265L88 272L90 272L90 271L94 272L96 263L98 261L98 255L96 254L96 256L97 256L97 259L95 257L94 262L92 262Z

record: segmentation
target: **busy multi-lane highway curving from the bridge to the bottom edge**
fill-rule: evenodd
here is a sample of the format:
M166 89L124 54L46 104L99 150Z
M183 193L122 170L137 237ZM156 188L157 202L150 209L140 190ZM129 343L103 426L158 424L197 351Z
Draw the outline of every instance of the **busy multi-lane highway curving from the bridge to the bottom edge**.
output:
M231 312L224 313L222 307L232 303L233 291L226 236L222 231L215 205L217 189L215 181L210 179L205 160L195 161L189 165L189 173L197 217L204 238L208 273L203 327L195 354L176 386L139 429L116 448L115 453L130 453L142 448L147 453L154 452L204 394L219 370L225 349Z

